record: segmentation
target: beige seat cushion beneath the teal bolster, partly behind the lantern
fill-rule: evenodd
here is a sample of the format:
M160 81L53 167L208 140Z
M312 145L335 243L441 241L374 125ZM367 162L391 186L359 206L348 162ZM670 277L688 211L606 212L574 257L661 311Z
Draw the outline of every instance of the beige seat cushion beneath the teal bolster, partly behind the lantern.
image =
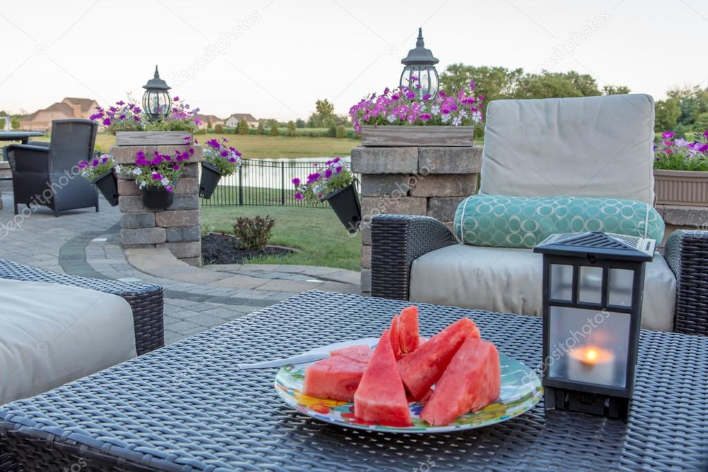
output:
M413 261L411 301L542 315L543 256L530 249L455 244ZM663 255L646 265L641 327L673 330L676 280Z

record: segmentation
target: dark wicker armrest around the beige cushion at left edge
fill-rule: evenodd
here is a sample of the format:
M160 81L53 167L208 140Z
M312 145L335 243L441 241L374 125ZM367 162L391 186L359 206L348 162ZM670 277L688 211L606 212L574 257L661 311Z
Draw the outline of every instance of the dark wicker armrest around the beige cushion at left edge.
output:
M165 344L163 294L162 287L159 285L57 274L49 270L1 259L0 278L69 285L118 295L130 304L133 312L135 350L137 350L137 354L143 355Z

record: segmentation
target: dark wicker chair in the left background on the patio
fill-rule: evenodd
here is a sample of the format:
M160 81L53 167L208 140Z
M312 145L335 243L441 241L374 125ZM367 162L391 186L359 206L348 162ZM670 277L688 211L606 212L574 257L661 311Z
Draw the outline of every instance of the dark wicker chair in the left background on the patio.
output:
M98 125L91 120L55 120L52 141L11 144L6 147L13 178L15 214L17 205L43 205L55 216L67 209L96 207L96 187L72 168L91 159Z

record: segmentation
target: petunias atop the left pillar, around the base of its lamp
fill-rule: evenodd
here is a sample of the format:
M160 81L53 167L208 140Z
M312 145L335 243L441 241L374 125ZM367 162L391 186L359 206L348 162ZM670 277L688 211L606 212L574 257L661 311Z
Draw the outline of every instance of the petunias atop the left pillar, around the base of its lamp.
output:
M151 121L132 96L127 103L120 100L108 108L97 107L90 119L111 134L118 131L191 131L198 129L199 108L191 108L179 97L173 98L172 110L164 120Z

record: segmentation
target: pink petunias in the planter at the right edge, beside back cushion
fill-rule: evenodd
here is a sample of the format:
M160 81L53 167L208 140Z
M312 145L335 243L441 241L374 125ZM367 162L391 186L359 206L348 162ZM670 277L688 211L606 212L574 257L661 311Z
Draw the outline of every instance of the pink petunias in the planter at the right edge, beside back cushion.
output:
M688 141L663 132L654 144L654 168L667 171L708 171L708 129Z

